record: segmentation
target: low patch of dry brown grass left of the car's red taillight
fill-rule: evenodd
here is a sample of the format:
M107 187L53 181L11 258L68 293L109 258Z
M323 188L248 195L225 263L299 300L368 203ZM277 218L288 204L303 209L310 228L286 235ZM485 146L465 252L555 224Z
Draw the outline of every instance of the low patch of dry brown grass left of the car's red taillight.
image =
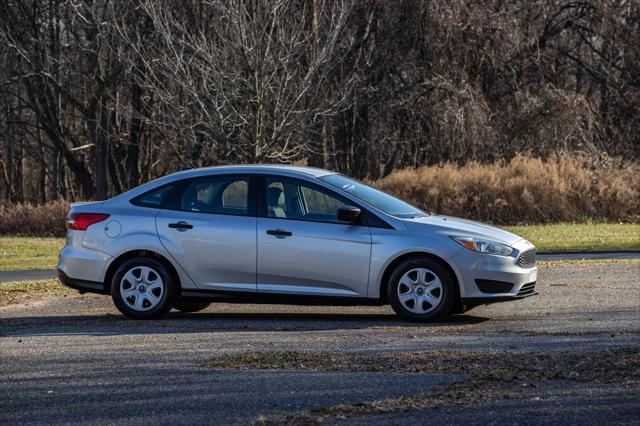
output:
M63 237L69 203L0 205L0 235Z

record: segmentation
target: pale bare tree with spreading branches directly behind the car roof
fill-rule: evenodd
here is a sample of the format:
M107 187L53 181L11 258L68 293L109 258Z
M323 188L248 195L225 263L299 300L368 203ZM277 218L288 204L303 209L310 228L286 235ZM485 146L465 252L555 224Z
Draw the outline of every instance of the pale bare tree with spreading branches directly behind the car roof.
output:
M353 74L329 84L345 56L352 2L144 1L153 40L120 22L154 120L189 165L279 162L309 149L304 127L346 104ZM199 8L199 9L198 9Z

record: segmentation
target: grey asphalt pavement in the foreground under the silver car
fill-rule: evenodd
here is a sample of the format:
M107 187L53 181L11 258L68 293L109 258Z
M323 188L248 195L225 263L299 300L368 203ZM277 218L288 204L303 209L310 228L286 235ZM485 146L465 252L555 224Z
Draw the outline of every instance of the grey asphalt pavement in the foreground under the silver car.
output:
M639 264L542 267L539 290L534 298L479 307L431 325L400 322L387 307L219 304L203 313L136 322L120 316L108 297L96 295L8 306L0 308L0 423L250 422L273 410L429 392L460 379L202 367L212 357L239 352L640 347ZM638 386L549 382L538 385L541 392L532 401L349 421L632 424L640 418Z

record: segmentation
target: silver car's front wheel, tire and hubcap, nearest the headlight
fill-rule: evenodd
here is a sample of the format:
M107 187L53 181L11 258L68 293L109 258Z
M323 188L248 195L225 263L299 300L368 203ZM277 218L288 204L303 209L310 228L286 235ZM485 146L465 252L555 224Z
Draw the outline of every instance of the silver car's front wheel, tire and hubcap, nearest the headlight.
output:
M447 268L428 258L410 259L398 265L387 291L393 310L414 322L446 317L457 297L455 281Z

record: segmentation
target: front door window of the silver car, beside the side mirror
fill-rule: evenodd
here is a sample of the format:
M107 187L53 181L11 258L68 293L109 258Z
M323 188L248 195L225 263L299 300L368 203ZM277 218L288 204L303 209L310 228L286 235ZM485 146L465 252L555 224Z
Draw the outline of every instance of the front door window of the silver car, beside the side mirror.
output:
M269 217L343 223L338 209L344 200L299 181L267 178L266 183Z

